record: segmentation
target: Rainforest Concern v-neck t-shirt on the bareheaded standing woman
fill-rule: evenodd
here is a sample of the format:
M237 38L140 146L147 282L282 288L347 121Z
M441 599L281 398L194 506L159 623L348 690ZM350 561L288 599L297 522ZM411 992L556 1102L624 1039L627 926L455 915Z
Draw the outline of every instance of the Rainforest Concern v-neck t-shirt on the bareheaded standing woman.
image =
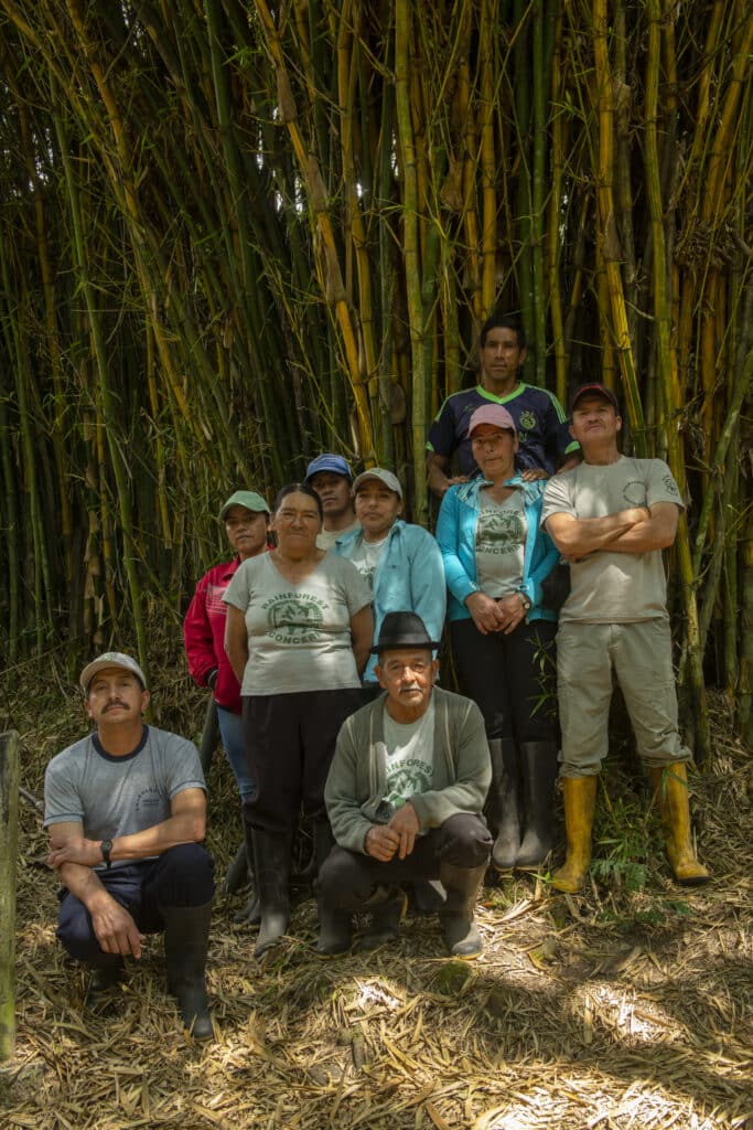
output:
M327 554L297 583L282 576L271 554L249 557L222 600L246 618L243 695L360 687L350 621L371 593L344 557Z

